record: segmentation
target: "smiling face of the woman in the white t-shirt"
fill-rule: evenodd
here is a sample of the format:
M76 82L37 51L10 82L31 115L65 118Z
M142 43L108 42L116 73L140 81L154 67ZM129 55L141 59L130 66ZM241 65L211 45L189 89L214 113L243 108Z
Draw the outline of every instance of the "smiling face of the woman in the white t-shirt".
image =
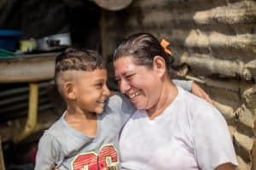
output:
M157 104L160 96L160 74L157 69L136 65L131 56L113 62L119 90L137 109L148 110Z

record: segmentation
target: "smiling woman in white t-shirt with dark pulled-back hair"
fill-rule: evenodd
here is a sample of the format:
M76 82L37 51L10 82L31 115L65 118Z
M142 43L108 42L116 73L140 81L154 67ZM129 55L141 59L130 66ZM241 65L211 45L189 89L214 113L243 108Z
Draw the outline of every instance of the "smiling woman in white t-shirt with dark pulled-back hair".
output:
M169 55L154 36L128 37L113 65L120 91L137 108L120 134L123 169L235 169L224 117L172 83Z

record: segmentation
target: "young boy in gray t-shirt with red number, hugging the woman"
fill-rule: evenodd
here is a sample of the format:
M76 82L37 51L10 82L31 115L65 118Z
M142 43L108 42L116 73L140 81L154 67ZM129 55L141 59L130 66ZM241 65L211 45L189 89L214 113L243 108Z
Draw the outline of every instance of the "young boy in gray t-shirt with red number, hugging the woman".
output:
M40 139L35 169L119 169L119 132L135 108L123 95L108 99L102 56L67 49L55 60L55 85L67 111Z

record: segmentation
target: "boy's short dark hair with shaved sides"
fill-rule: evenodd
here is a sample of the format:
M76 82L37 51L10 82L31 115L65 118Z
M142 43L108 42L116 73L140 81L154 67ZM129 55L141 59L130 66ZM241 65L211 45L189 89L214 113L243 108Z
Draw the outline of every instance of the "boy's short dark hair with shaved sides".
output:
M61 82L63 74L67 71L94 71L106 69L105 60L94 50L67 48L55 59L55 86L62 95Z

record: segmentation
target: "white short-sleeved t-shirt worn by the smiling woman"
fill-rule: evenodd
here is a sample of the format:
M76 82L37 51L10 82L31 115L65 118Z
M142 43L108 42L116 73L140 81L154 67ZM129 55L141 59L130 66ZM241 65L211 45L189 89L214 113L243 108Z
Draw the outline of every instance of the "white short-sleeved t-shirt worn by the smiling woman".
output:
M150 120L137 110L120 134L122 169L212 170L236 153L224 117L212 105L177 88L172 104Z

